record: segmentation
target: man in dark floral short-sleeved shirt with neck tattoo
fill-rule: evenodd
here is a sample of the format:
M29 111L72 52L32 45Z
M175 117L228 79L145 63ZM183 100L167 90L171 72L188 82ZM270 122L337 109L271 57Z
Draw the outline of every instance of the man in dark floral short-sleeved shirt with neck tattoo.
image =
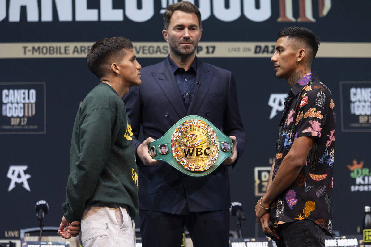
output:
M279 124L276 162L267 192L257 201L256 220L279 247L325 246L325 234L332 234L334 101L311 71L319 46L313 32L288 27L278 37L271 61L276 77L291 89Z

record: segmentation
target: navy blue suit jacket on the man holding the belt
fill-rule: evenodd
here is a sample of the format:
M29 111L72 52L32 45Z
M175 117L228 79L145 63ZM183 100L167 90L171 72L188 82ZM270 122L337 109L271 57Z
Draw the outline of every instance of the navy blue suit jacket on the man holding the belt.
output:
M141 80L142 84L131 87L124 97L135 144L140 143L141 126L144 138L158 139L182 117L198 115L227 136L236 136L237 153L242 155L246 135L230 71L197 60L196 81L200 84L188 112L168 59L143 68ZM187 176L163 161L148 167L137 157L137 164L140 209L188 214L230 207L229 174L223 164L204 177Z

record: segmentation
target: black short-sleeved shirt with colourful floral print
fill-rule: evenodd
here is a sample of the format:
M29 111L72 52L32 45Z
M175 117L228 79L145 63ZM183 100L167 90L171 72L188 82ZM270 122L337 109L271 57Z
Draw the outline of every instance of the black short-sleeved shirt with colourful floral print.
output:
M273 225L307 219L332 234L335 116L331 91L314 72L290 89L279 125L272 178L296 138L314 137L315 144L296 180L273 200Z

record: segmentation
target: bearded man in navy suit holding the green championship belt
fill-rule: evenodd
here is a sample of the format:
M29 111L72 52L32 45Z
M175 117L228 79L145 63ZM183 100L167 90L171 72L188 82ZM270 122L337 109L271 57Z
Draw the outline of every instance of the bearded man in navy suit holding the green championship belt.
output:
M193 244L229 246L229 174L243 153L246 135L230 71L196 57L201 14L188 1L171 4L162 34L170 55L141 70L142 84L125 96L139 166L142 246L180 246L184 226ZM187 115L206 118L233 140L233 155L213 173L187 176L148 153L148 144ZM138 140L140 127L144 137Z

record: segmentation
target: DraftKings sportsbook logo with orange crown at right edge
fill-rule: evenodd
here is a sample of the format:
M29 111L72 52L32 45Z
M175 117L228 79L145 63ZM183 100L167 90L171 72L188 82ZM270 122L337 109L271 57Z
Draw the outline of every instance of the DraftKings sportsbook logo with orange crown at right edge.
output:
M370 168L364 167L364 161L358 163L353 160L351 165L347 165L351 171L350 177L355 179L355 185L350 187L350 191L371 191Z

